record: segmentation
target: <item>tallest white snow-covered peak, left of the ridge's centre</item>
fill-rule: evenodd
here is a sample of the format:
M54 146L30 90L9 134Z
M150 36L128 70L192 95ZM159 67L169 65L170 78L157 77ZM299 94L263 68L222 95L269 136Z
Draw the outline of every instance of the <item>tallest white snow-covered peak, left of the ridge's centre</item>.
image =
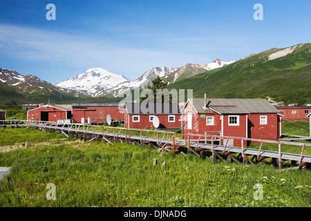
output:
M109 92L117 84L126 81L129 81L129 79L126 79L123 75L110 73L104 68L90 68L82 74L60 81L55 86L97 96Z

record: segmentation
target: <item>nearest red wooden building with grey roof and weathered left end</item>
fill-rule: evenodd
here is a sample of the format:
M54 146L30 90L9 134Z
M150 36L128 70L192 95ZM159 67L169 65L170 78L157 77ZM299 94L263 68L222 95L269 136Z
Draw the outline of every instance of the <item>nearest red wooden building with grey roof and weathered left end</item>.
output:
M182 134L187 133L277 140L281 118L265 99L191 99L182 109ZM241 146L238 140L232 144Z

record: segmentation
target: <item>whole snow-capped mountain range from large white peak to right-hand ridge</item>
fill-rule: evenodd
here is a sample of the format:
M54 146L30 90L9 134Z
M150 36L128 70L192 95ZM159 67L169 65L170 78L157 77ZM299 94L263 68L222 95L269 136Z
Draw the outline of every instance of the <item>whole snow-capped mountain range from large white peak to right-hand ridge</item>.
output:
M138 77L138 79L135 79L135 81L126 79L123 75L109 73L108 70L103 68L91 68L82 74L75 75L75 77L60 81L55 86L77 90L93 97L102 95L113 95L117 97L117 95L124 93L126 90L138 87L146 88L157 76L171 83L176 81L176 79L192 77L207 70L232 64L233 62L216 59L209 64L186 64L182 68L155 67L147 70L147 72Z

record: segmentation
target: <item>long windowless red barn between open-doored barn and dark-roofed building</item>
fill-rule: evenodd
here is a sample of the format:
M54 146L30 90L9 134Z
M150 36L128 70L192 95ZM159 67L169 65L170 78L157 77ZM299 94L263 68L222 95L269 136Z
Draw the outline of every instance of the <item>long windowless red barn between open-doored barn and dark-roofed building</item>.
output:
M107 115L115 121L124 121L122 104L73 104L73 122L104 123Z

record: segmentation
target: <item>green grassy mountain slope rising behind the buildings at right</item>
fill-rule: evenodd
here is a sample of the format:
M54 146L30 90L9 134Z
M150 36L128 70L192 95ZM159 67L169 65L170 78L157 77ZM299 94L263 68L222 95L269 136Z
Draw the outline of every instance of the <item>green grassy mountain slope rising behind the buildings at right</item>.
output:
M168 88L193 89L194 97L267 98L275 102L311 103L311 44L268 60L285 48L272 48L233 64L176 81Z

